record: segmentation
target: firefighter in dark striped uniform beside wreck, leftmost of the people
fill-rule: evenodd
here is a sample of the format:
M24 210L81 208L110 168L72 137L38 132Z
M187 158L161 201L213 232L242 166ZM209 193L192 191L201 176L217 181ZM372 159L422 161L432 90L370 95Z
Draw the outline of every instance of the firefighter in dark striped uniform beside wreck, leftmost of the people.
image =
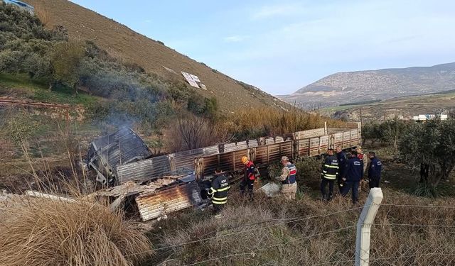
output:
M212 198L215 214L218 214L228 201L229 189L230 184L228 177L221 172L220 167L217 167L215 170L215 178L212 180L212 185L207 192L208 196Z

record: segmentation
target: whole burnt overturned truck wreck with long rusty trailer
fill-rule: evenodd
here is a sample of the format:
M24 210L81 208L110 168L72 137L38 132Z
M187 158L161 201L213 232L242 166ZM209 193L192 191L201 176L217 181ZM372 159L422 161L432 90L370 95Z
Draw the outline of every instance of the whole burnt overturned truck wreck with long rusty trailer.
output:
M133 209L143 221L148 221L190 206L209 204L203 192L215 168L241 172L242 156L262 167L278 162L282 156L295 160L321 155L336 146L353 148L360 145L360 140L360 123L348 123L346 128L324 126L151 157L139 135L123 128L90 143L89 165L101 176L99 179L104 177L108 183L114 180L110 182L113 187L95 192L95 196L109 199L112 209Z

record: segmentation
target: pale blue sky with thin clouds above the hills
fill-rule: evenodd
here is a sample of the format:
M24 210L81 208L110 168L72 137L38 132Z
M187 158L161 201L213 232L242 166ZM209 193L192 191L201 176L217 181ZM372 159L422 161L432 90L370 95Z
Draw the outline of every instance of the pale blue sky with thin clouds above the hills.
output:
M336 72L455 61L453 0L73 2L274 95Z

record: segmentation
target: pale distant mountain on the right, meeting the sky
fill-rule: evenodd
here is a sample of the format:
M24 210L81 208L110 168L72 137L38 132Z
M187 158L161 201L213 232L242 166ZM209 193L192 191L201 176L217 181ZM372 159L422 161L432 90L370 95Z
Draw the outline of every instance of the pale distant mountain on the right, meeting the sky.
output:
M324 107L451 89L455 89L455 62L433 67L339 72L279 98L304 107Z

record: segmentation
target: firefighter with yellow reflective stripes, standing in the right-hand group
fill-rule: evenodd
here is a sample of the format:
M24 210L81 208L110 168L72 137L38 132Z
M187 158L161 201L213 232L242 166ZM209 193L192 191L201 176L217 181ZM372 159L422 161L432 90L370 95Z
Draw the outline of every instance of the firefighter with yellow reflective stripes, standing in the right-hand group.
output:
M330 201L333 199L333 182L335 182L338 176L338 159L333 155L333 149L327 150L327 157L322 167L321 172L321 193L324 201ZM326 193L326 187L328 184L328 195Z

